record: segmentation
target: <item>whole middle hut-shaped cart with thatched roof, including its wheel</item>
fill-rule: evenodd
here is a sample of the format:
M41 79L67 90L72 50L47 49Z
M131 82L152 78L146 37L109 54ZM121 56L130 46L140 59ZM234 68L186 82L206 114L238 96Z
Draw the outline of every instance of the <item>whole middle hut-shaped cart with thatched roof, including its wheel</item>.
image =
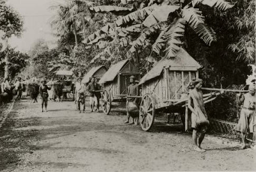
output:
M105 114L109 114L112 102L126 101L129 77L134 75L140 81L140 74L138 68L129 59L119 61L109 68L99 81L102 85L100 102Z

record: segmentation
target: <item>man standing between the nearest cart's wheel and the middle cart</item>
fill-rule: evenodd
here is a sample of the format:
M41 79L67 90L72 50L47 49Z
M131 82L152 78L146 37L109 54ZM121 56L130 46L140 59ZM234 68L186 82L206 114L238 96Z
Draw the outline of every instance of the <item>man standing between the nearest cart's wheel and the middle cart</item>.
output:
M138 83L135 81L134 75L131 75L130 77L130 85L127 88L127 96L138 96L139 95L139 88L138 88ZM133 97L127 97L127 102L126 102L126 113L127 113L127 121L125 123L129 123L129 118L130 114L128 111L128 104L129 102L132 102L134 105L138 107L138 98L133 98ZM132 118L132 124L134 123L134 118ZM138 123L138 120L136 121Z

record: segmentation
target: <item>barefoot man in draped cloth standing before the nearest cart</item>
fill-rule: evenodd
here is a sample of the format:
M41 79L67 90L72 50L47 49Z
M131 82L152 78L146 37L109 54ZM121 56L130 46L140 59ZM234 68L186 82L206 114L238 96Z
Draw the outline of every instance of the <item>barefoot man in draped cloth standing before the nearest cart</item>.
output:
M202 79L195 79L190 84L188 108L191 114L191 128L193 129L193 141L197 152L205 152L201 147L209 121L204 108L202 93Z

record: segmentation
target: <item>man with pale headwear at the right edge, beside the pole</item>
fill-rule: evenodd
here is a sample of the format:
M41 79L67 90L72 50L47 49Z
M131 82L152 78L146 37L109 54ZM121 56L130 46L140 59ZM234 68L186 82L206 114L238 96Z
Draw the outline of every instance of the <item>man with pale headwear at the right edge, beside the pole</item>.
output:
M237 132L241 133L241 138L243 141L243 145L241 146L241 149L246 148L246 132L247 127L249 127L249 132L253 132L253 125L255 125L255 103L256 103L256 97L255 97L255 84L251 84L249 86L249 93L245 93L244 95L241 95L241 93L237 94L239 97L238 104L243 104L240 118L236 126ZM250 143L250 146L252 143Z

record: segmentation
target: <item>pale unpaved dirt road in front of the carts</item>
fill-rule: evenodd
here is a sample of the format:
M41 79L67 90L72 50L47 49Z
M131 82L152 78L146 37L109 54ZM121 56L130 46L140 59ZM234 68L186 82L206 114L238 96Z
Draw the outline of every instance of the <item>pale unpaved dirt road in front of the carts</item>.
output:
M86 107L86 111L89 109ZM0 171L255 171L255 152L208 136L198 153L178 126L125 125L125 109L79 114L73 102L15 102L0 129Z

